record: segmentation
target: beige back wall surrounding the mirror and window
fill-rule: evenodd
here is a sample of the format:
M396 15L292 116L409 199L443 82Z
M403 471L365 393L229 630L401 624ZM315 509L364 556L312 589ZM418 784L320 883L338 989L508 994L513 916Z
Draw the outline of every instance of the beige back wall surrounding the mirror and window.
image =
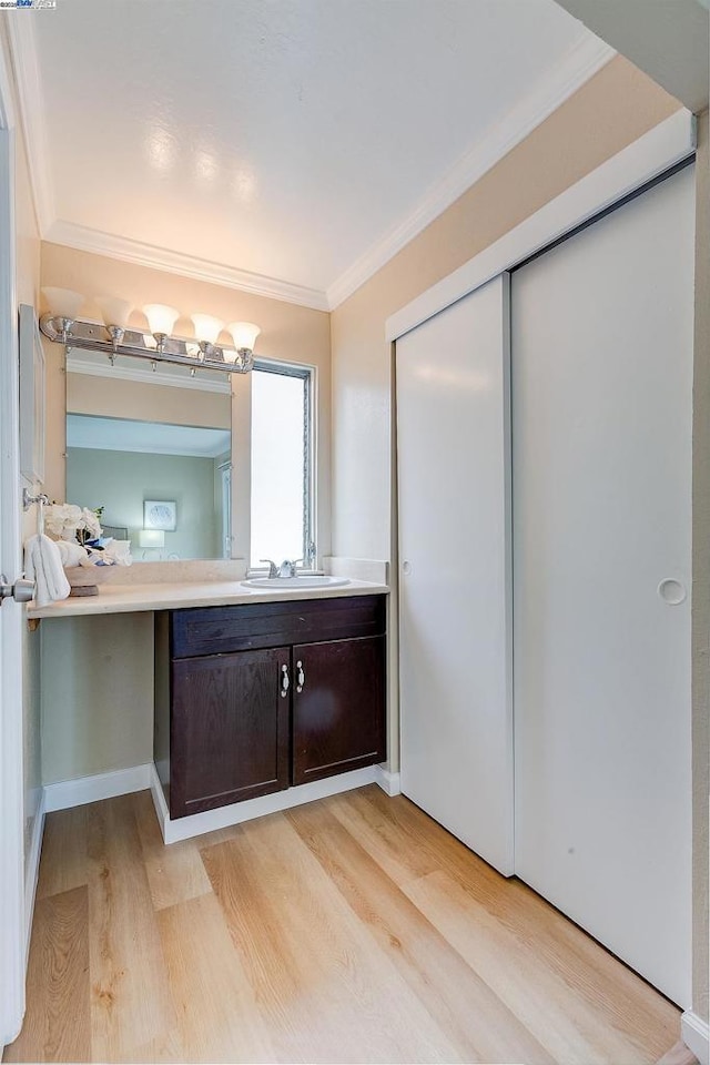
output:
M316 367L317 388L317 530L318 550L329 554L331 546L331 335L329 318L322 311L297 307L280 300L254 296L221 285L190 277L180 277L165 271L152 270L122 263L102 255L79 252L57 244L42 244L42 285L73 288L89 297L83 314L100 320L99 308L91 300L110 294L128 300L136 310L131 324L146 327L145 318L138 308L146 303L166 303L180 310L182 317L175 324L175 334L192 336L192 312L213 314L224 322L243 320L256 322L261 335L256 354L263 358L283 359ZM48 416L47 416L47 484L55 499L63 499L64 480L64 378L61 345L44 345L48 363ZM73 387L73 385L72 385ZM150 386L152 387L152 386ZM152 396L152 393L151 393ZM151 400L152 402L152 400ZM125 410L123 414L128 414ZM240 434L248 432L248 377L235 376L232 405L234 444L240 446ZM235 462L234 496L245 498L248 494L248 470ZM241 508L239 514L245 514ZM247 550L247 527L236 524L235 555Z

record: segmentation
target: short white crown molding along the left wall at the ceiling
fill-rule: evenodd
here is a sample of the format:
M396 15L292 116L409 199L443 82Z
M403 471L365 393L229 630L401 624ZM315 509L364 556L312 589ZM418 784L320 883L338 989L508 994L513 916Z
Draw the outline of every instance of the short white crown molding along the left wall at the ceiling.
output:
M24 13L18 13L14 18L8 18L6 26L17 88L17 106L28 155L34 214L40 236L44 237L55 217L55 210L34 19L28 18Z

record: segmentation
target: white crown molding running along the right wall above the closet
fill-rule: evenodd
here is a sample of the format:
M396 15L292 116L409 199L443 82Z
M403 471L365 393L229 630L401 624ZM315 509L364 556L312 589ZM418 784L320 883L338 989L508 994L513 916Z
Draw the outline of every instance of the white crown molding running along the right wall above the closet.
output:
M327 288L332 311L377 273L443 211L569 99L617 53L585 31L562 59L491 125L478 142L426 193L406 219L393 226Z

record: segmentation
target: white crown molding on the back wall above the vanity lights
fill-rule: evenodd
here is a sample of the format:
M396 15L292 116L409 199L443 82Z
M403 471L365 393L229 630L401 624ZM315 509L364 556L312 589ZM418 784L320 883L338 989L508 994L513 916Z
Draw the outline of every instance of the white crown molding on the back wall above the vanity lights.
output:
M293 285L287 281L275 277L264 277L262 274L252 274L247 270L226 266L224 263L213 263L184 252L174 252L154 244L144 244L114 233L103 233L101 230L77 225L57 219L49 226L44 240L51 244L63 244L75 247L81 252L93 252L95 255L108 255L135 266L149 266L162 270L169 274L180 274L181 277L192 277L193 281L206 281L225 288L237 288L240 292L250 292L256 296L266 296L270 300L281 300L283 303L295 303L313 311L328 311L326 295L318 288L306 288L303 285Z

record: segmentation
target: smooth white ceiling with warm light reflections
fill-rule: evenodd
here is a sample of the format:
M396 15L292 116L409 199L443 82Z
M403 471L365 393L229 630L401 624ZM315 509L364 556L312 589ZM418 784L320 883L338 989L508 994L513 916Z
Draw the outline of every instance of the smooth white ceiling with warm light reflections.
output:
M554 0L12 21L44 239L331 307L612 54Z

